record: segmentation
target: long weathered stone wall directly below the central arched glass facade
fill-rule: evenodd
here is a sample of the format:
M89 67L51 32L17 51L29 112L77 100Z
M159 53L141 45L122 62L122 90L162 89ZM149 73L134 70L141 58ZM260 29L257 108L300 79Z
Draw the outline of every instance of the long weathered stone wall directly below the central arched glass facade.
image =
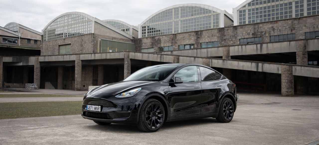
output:
M296 34L296 40L305 39L305 32L318 31L319 16L293 18L279 21L263 22L230 26L203 31L184 32L170 35L133 39L136 51L141 48L195 44L200 47L202 42L219 41L219 46L240 45L241 38L262 37L262 43L269 43L270 36ZM156 50L156 49L155 49Z

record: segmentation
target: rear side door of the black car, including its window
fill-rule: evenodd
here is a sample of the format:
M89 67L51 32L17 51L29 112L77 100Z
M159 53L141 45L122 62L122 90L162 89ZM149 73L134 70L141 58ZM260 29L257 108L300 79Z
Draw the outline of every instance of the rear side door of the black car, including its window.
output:
M217 113L217 99L224 87L219 81L222 75L202 66L199 66L199 70L202 86L201 114Z

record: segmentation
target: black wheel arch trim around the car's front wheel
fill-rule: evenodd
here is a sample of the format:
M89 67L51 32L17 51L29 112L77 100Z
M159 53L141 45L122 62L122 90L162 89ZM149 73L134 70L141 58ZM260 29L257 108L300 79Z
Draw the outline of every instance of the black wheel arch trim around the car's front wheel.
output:
M167 120L167 117L169 116L169 109L168 109L168 105L167 105L167 102L166 102L166 99L160 95L160 94L157 94L157 93L152 93L152 94L149 94L148 96L146 96L144 98L144 100L141 102L141 105L138 107L138 111L137 111L137 116L139 116L140 114L140 111L141 111L141 107L143 106L144 102L147 100L147 99L156 99L156 100L159 100L160 103L162 103L163 107L164 107L164 111L165 111L165 120ZM137 117L137 122L138 122L138 117Z

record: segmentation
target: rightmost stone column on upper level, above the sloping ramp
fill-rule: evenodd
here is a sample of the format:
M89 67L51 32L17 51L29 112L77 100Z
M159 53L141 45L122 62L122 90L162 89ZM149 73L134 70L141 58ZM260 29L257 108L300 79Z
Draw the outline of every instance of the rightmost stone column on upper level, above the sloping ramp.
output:
M297 65L308 65L307 40L296 41Z

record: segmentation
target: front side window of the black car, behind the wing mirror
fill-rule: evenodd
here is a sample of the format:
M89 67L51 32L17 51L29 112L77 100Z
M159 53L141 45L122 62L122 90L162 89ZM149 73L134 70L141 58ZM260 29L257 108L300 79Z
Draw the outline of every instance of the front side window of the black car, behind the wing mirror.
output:
M198 73L197 66L186 66L179 70L175 75L175 77L179 77L183 80L184 83L187 82L197 82L198 81Z

